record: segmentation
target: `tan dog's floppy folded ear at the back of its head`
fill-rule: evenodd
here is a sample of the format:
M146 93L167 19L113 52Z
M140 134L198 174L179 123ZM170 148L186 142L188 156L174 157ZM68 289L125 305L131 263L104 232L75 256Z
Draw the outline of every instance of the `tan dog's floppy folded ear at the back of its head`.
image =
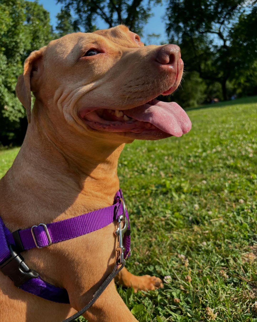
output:
M43 54L46 47L31 52L24 62L23 74L18 77L15 87L16 95L27 111L28 122L31 121L31 91L37 91L39 79L43 72Z

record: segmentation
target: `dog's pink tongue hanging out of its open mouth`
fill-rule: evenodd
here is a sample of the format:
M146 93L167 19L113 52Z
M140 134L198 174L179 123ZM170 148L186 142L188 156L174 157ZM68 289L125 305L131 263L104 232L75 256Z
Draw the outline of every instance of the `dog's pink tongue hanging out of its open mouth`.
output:
M181 137L191 129L191 121L186 112L175 102L161 102L156 99L134 109L122 111L131 118L149 122L160 130Z

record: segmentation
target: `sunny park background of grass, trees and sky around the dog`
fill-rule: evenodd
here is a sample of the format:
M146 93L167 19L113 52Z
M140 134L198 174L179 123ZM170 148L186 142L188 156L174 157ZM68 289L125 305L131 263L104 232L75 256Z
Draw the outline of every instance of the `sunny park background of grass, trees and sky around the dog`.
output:
M146 44L181 46L184 82L161 99L179 102L192 129L121 154L132 225L126 266L164 288L118 291L140 322L256 322L256 1L0 0L0 177L27 127L14 93L26 57L66 33L121 21Z

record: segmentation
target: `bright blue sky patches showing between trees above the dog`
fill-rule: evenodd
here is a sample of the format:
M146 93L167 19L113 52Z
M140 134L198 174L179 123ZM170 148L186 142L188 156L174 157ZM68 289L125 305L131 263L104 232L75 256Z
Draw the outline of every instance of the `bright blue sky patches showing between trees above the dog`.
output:
M61 10L61 4L56 4L55 0L39 0L39 3L44 6L44 8L50 12L50 19L51 24L55 27L56 25L56 15ZM148 23L144 29L144 37L142 37L142 41L146 42L146 35L147 34L160 34L160 38L156 41L156 44L160 43L161 41L167 43L167 36L165 33L165 22L164 22L164 15L165 15L165 5L156 5L153 7L154 15L149 19ZM101 19L97 20L97 26L100 29L108 28L106 24L101 21ZM158 43L157 43L158 42Z

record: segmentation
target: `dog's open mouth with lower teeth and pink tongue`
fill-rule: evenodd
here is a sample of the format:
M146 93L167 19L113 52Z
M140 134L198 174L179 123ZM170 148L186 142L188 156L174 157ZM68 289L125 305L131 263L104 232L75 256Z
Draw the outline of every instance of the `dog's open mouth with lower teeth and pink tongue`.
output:
M95 130L130 132L140 138L146 133L148 137L180 137L191 129L189 117L177 103L156 99L132 109L87 109L79 115Z

